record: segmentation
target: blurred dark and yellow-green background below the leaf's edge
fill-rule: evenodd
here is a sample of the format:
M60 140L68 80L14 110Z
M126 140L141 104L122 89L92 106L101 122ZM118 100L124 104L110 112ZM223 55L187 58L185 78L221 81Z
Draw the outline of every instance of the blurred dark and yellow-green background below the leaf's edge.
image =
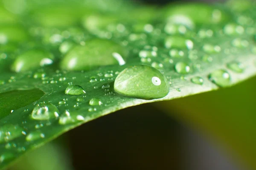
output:
M255 169L256 78L117 111L77 127L10 170Z

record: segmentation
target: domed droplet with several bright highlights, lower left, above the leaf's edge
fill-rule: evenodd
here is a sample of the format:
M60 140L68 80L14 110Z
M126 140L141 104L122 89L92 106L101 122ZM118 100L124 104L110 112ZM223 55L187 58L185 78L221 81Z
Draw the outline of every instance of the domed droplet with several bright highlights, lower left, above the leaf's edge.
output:
M32 119L35 120L49 120L58 117L58 108L51 103L37 105L31 114Z

